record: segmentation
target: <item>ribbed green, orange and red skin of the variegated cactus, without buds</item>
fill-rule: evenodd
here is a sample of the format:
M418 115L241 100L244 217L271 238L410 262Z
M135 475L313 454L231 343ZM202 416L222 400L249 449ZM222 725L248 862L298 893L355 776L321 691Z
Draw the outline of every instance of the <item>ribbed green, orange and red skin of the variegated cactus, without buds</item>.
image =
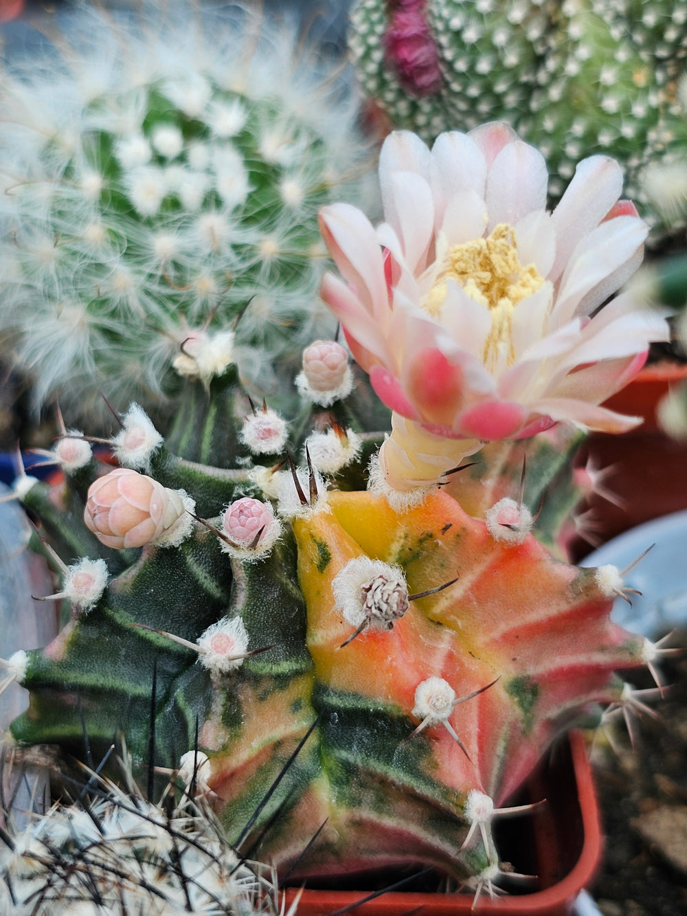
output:
M214 418L227 435L231 413L212 409L213 391L224 398L222 381L211 386L205 422ZM311 409L302 425L321 423ZM551 432L528 443L533 511L576 441ZM291 442L292 454L298 445ZM249 561L227 556L200 523L179 547L105 548L78 521L83 472L60 486L31 486L24 502L45 519L61 559L103 557L112 578L92 610L72 609L46 649L27 652L20 680L30 706L12 725L16 741L56 744L78 758L84 729L93 755L124 732L145 785L151 756L174 768L198 734L217 810L242 854L283 873L326 820L294 875L419 862L457 878L479 874L492 851L479 831L462 848L468 794L504 802L555 736L597 703L617 700L613 671L643 664L645 640L610 622L620 587L613 574L609 584L556 559L531 534L509 543L485 524L485 507L518 497L522 451L512 443L487 447L484 464L457 473L453 495L437 491L404 512L355 488L365 481L362 461L336 475L337 489L324 495L321 483L317 499L295 500L272 550ZM211 528L232 500L261 496L256 480L273 492L267 467L218 469L166 446L150 464L160 483L196 498ZM542 540L555 542L565 498L551 502ZM369 626L347 642L354 627L333 580L357 558L398 565L411 600L391 629ZM248 648L260 651L224 674L165 635L194 643L235 617ZM441 722L417 731L414 693L431 678L456 698L474 694L450 719L464 749Z

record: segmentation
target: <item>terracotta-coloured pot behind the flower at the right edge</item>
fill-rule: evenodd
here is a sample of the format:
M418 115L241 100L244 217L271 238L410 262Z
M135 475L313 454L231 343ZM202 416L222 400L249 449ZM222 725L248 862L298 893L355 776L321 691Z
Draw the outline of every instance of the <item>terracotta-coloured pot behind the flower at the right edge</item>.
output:
M660 431L656 419L661 398L685 379L687 365L650 366L606 401L605 407L643 417L644 423L621 436L594 433L585 442L578 463L590 458L597 469L612 468L604 485L619 505L602 496L590 497L592 540L576 545L576 559L627 529L687 508L687 443Z

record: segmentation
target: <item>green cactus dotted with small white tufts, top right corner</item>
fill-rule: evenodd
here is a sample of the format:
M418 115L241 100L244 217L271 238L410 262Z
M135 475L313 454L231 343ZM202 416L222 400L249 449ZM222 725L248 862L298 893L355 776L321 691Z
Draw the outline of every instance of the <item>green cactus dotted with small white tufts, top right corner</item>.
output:
M409 8L427 24L437 56L432 92L413 91L403 52L389 46L394 17ZM649 163L683 158L683 3L358 0L351 25L359 80L394 126L431 143L445 130L506 120L547 158L552 202L580 158L602 153L623 165L626 193L643 215L673 230L683 224L683 214L662 212L643 180Z

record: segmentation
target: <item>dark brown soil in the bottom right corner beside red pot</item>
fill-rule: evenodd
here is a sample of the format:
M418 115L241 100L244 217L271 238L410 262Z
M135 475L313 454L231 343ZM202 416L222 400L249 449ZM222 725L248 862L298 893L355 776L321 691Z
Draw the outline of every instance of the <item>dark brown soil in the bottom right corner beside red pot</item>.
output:
M671 644L687 646L687 631ZM603 736L594 750L606 847L590 892L604 916L687 916L687 653L661 670L671 686L652 704L660 718L633 716L633 748L618 716L615 750Z

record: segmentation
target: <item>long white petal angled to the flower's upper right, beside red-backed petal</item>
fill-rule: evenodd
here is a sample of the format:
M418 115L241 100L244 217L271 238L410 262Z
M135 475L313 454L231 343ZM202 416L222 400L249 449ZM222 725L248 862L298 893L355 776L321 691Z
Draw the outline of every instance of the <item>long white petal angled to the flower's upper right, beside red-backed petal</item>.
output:
M615 159L590 156L575 169L561 201L551 213L558 250L550 278L558 279L575 246L601 223L623 189L623 172Z

